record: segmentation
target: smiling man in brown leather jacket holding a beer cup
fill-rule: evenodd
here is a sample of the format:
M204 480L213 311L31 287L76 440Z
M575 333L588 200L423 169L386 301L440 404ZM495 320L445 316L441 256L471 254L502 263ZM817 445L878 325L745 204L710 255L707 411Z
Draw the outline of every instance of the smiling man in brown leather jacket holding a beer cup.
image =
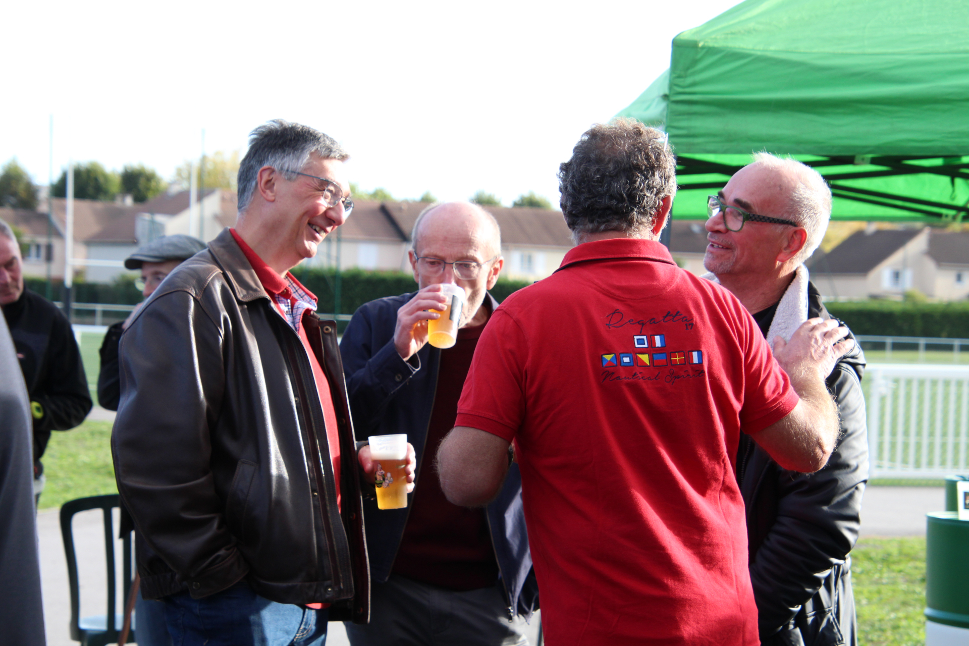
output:
M118 491L142 538L142 594L165 600L176 644L318 645L328 620L368 619L360 476L373 467L336 325L289 273L353 208L345 159L312 128L253 131L235 228L121 337ZM413 481L413 452L409 468Z

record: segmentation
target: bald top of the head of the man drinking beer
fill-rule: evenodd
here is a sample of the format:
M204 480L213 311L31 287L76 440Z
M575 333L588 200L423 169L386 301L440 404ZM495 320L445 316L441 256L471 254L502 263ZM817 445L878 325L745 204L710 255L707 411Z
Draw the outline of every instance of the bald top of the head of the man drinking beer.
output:
M480 247L487 258L501 253L501 230L494 216L478 204L468 201L449 201L431 204L414 222L411 245L422 255L422 237L445 236L458 244Z

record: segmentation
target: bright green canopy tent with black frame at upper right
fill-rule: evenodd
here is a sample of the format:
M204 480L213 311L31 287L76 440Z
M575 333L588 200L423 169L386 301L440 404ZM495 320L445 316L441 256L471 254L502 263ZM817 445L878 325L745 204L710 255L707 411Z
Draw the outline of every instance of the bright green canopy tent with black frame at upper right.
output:
M679 219L754 151L818 169L832 219L960 221L969 204L969 2L747 0L672 41L617 116L666 130Z

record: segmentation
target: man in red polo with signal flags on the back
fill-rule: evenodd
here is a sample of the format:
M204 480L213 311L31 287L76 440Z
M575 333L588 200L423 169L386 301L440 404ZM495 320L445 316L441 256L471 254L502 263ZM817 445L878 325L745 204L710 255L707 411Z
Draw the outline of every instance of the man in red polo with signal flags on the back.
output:
M480 505L515 443L549 643L758 644L740 427L798 471L837 432L824 376L843 330L782 342L789 379L736 298L657 241L674 169L635 121L582 136L559 171L578 246L494 312L438 453L449 500Z

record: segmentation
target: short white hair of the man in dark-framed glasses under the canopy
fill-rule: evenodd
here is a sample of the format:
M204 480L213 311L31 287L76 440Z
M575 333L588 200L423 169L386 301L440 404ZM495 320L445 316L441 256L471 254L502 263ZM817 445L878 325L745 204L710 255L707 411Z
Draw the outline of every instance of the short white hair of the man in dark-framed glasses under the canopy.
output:
M828 188L828 183L820 172L806 164L767 152L754 153L751 166L785 171L797 182L795 190L788 198L784 215L797 222L807 232L804 247L793 259L797 264L806 261L821 245L825 231L828 231L828 220L831 217L831 190Z

